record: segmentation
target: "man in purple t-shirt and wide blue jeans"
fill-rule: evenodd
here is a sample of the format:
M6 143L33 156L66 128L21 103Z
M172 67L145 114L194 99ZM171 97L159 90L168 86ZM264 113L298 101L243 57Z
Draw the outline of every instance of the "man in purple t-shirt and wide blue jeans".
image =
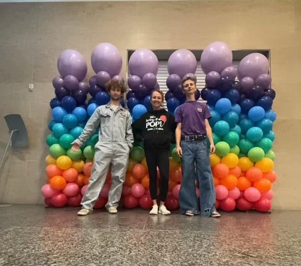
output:
M197 87L194 78L184 79L182 88L186 95L186 102L179 106L175 115L175 121L178 123L176 128L177 153L181 157L183 170L179 194L180 211L187 216L200 214L195 186L197 176L201 191L201 215L220 217L214 207L216 195L209 157L209 152L215 152L212 130L208 122L211 114L206 105L195 100ZM210 142L210 149L206 135Z

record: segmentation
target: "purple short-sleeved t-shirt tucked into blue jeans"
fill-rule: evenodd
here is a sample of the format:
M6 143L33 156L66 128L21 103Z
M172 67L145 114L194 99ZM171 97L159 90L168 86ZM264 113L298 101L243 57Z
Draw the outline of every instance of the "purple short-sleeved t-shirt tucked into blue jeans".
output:
M205 119L211 118L208 107L197 101L185 102L175 116L177 123L182 123L182 136L206 134Z

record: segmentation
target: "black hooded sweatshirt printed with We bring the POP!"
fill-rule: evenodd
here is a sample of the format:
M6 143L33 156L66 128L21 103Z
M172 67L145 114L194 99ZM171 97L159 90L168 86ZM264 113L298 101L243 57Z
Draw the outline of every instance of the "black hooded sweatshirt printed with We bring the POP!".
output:
M169 149L170 142L175 143L176 126L165 109L147 112L132 124L135 140L144 140L146 150Z

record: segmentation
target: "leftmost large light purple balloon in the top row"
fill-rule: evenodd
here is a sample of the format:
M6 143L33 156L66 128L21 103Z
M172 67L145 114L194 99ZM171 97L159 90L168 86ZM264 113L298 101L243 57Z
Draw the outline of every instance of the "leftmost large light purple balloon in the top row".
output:
M63 78L72 75L78 81L82 81L87 74L88 67L81 53L67 49L57 59L57 69Z

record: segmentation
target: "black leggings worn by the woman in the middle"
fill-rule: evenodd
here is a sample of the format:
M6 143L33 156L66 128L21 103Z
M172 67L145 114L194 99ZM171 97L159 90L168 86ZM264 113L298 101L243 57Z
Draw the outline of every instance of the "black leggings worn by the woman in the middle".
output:
M151 199L157 199L157 166L160 171L160 201L165 202L168 193L169 160L168 150L146 150L145 157L150 175Z

